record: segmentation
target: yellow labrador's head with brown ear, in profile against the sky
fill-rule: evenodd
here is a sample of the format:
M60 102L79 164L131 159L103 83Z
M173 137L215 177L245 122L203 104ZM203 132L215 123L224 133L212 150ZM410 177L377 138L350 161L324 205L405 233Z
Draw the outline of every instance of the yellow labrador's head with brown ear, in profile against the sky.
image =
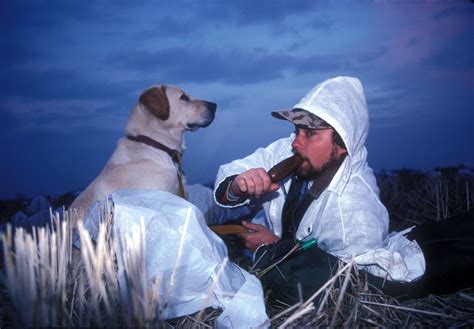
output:
M154 86L140 96L140 103L165 126L195 131L214 120L216 103L193 99L176 86Z

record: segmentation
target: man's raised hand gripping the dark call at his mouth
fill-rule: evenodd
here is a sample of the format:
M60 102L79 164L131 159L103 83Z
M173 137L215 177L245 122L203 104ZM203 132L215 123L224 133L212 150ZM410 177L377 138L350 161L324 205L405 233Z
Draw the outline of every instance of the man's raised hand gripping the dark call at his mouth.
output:
M268 192L275 192L280 186L272 183L265 169L250 169L238 175L232 181L230 191L237 196L248 195L260 198Z

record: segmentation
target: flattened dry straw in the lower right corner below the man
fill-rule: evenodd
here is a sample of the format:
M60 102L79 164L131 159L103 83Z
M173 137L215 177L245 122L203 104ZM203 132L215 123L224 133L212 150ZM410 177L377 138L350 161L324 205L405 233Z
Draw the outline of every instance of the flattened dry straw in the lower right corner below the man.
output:
M308 301L278 314L271 311L278 328L472 327L474 290L400 303L369 286L353 264L340 262L337 273Z

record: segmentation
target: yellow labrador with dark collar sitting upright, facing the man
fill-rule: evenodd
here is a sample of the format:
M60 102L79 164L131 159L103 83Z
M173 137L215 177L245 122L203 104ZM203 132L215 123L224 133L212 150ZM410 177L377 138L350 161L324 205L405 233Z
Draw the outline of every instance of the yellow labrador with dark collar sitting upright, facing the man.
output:
M120 189L157 189L185 196L181 168L184 131L207 127L217 105L176 86L153 86L140 96L105 168L70 208L87 211Z

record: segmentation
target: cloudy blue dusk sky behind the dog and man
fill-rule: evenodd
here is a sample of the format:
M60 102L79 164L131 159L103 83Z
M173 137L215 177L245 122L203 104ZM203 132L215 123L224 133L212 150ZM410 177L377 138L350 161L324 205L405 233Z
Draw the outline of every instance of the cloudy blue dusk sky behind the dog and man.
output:
M162 83L218 104L188 183L286 137L270 112L338 75L364 86L375 172L474 165L472 1L7 0L0 36L0 199L85 188Z

